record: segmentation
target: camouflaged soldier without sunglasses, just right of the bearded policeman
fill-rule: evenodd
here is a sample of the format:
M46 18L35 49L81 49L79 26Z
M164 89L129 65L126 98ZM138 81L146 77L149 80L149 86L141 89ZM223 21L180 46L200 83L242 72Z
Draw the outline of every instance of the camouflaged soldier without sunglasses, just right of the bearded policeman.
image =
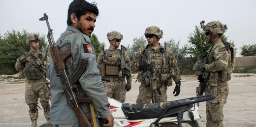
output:
M118 61L120 62L121 59L121 50L117 49L123 39L123 35L120 32L112 31L107 33L107 39L110 43L109 48L99 54L97 67L99 68L100 76L110 79L110 82L104 83L107 96L124 103L126 91L128 92L131 89L131 73L130 70L125 69L126 84L124 77L120 75L120 65L118 65ZM124 54L124 60L126 61L125 64L130 67L126 53Z

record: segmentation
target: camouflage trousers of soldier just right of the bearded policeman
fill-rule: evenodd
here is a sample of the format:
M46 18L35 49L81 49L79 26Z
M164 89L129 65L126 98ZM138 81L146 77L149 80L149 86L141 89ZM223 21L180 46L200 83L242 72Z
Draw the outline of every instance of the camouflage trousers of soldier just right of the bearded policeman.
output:
M107 93L107 96L118 100L121 103L124 103L126 100L126 82L123 81L123 90L122 90L122 80L104 82L104 88Z

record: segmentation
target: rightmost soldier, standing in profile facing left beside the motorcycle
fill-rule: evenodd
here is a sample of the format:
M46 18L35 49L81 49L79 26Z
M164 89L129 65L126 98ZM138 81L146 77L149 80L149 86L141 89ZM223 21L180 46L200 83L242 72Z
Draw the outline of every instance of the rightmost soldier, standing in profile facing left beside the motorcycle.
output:
M230 63L230 54L221 40L221 36L227 28L219 21L209 22L205 26L202 25L201 28L205 32L206 41L212 46L201 55L193 69L196 75L202 75L205 80L208 80L204 91L205 95L217 96L206 102L206 126L223 127L223 107L228 95L227 81L231 78L224 76L227 74L231 76L231 70L225 71Z

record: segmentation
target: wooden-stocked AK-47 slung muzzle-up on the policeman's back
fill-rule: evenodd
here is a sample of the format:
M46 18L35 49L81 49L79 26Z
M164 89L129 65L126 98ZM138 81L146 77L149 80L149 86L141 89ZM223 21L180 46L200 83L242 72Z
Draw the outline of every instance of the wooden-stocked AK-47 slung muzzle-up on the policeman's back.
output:
M63 52L60 51L59 47L54 41L52 34L53 30L50 28L48 16L44 13L44 17L40 18L39 20L46 21L48 27L47 38L50 45L50 53L55 66L55 70L57 72L57 76L60 76L61 78L68 105L74 110L75 114L77 115L80 127L92 127L83 110L78 105L79 103L90 103L92 102L92 98L79 97L75 94L75 92L77 92L75 83L85 71L88 60L80 58L75 70L70 75L68 75L65 60L71 56L71 47L69 46Z

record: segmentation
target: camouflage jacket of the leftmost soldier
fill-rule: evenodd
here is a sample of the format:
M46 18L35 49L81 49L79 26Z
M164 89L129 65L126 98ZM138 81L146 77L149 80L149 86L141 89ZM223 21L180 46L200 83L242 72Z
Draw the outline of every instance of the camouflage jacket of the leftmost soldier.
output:
M46 67L48 66L48 64L50 63L49 57L47 57L47 58L45 59L45 54L40 53L38 50L33 51L33 52L30 51L30 52L27 52L27 53L26 53L27 56L28 56L28 59L27 59L28 61L34 61L33 58L32 58L32 56L30 55L30 53L32 53L33 55L35 55L35 56L37 57L37 61L38 61L40 64L42 64L45 68L46 68ZM42 58L41 58L41 59L38 58L38 54L42 54ZM23 77L24 77L24 70L25 70L25 67L26 67L28 64L29 64L28 62L26 62L26 63L21 63L20 60L19 60L19 58L17 59L17 61L16 61L16 63L15 63L15 68L16 68L17 71L19 71L19 76L23 75ZM31 69L36 69L34 65L32 65L30 68L31 68ZM42 75L42 79L46 78L46 77L45 77L45 72L46 72L46 70L43 70L43 71L40 72L40 73L41 73L40 75ZM20 74L21 74L21 75L20 75ZM25 77L25 78L26 78L26 77Z

